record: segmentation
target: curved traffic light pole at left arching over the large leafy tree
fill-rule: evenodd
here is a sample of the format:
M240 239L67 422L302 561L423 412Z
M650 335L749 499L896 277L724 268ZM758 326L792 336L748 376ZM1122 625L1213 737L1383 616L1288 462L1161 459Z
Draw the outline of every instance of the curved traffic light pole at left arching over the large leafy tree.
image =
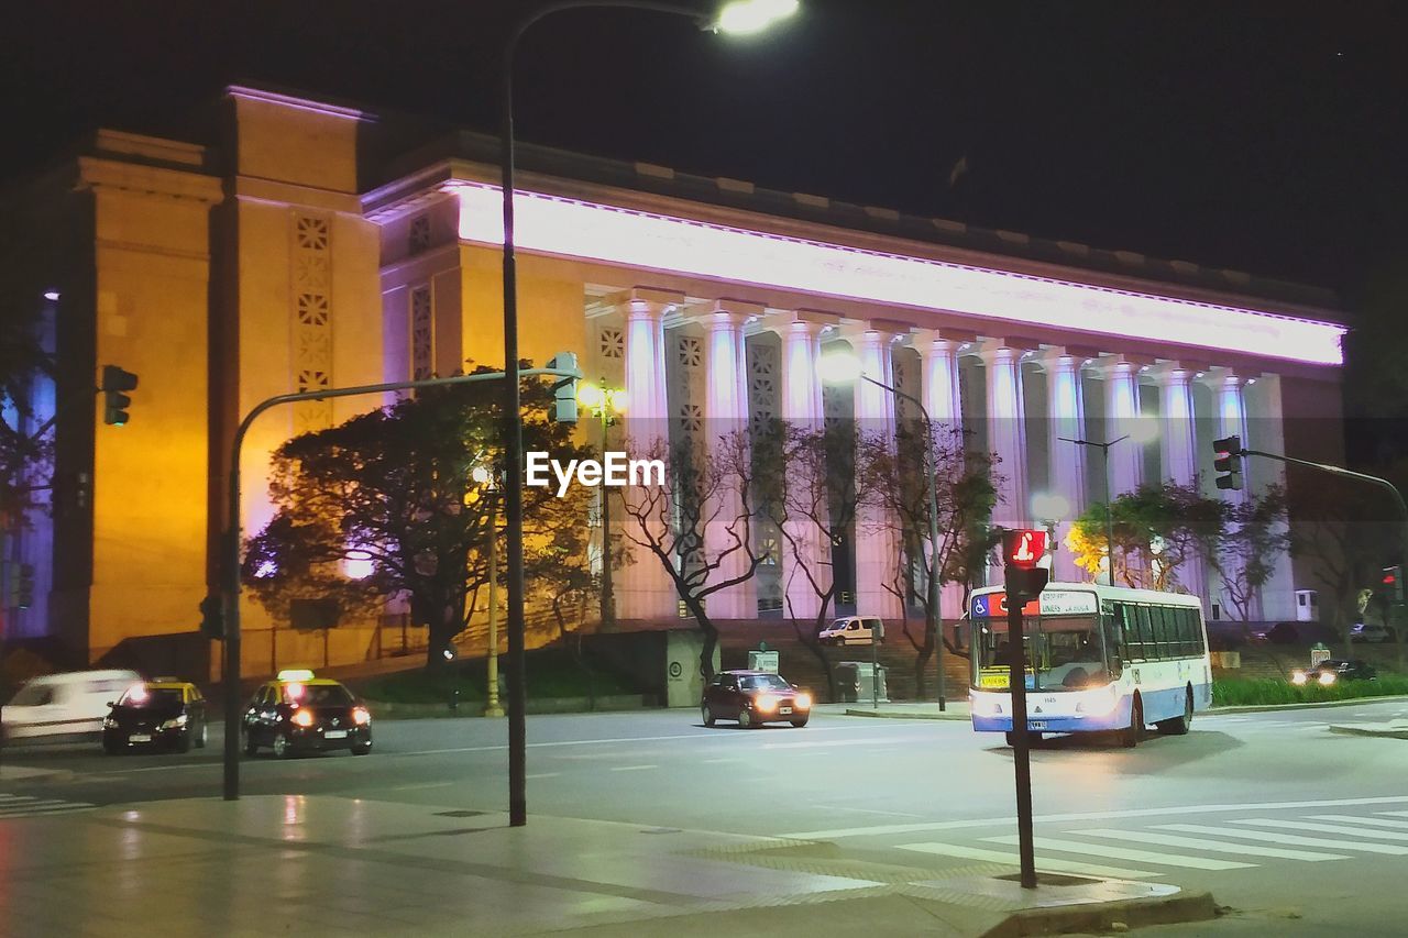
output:
M569 377L582 380L582 372L565 368L521 368L521 376L548 375L553 377ZM239 454L244 448L245 435L255 420L266 410L280 404L296 404L304 400L329 400L332 397L355 397L358 394L386 394L398 390L418 390L422 387L446 387L449 384L474 384L479 382L494 382L505 377L505 372L483 372L479 375L455 375L452 377L428 377L418 382L389 382L384 384L360 384L356 387L327 387L315 392L298 392L294 394L276 394L255 404L235 430L235 438L230 446L230 492L228 518L225 520L224 558L221 592L224 593L225 642L221 666L221 682L225 686L225 753L224 753L224 799L234 801L239 799ZM521 656L521 649L520 649ZM522 662L520 661L521 666ZM510 710L522 707L521 700L510 699ZM518 713L522 718L522 713ZM518 741L520 744L522 739ZM510 752L510 761L522 759L522 752Z

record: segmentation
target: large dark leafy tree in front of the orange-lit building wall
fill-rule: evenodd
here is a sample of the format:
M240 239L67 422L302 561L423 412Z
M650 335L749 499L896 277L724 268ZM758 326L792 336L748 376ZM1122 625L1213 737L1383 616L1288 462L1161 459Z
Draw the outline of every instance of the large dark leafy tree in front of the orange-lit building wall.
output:
M500 397L497 382L428 389L286 442L269 484L277 513L248 544L245 584L275 617L300 596L352 610L404 596L429 631L427 663L442 661L489 577L489 493L470 472L501 475ZM524 449L563 463L589 455L569 425L551 423L551 401L545 383L525 382ZM577 504L524 489L525 568L560 549L555 537ZM349 559L370 559L370 575L346 576Z

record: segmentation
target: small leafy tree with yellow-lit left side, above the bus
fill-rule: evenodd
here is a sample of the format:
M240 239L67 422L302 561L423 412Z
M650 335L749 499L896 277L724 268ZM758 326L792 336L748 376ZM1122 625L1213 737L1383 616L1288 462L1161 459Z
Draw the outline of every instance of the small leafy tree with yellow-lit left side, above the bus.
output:
M1115 575L1126 586L1166 592L1178 584L1178 569L1188 561L1212 561L1229 511L1221 499L1204 496L1197 479L1186 486L1173 480L1143 484L1110 506L1115 555L1124 561L1111 561ZM1097 501L1071 524L1066 546L1077 566L1098 575L1107 539L1105 504Z

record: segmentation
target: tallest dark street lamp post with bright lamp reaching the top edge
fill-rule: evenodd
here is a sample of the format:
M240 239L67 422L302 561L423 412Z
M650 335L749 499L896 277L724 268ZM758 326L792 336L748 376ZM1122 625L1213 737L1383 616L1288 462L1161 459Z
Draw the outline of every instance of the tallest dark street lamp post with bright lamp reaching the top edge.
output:
M504 42L500 73L500 172L504 200L504 524L508 548L508 824L528 823L527 806L527 680L524 673L524 465L521 394L518 387L518 273L514 258L514 54L532 24L563 10L622 7L686 17L700 28L759 32L797 11L798 0L732 0L715 17L656 0L556 0L518 20Z

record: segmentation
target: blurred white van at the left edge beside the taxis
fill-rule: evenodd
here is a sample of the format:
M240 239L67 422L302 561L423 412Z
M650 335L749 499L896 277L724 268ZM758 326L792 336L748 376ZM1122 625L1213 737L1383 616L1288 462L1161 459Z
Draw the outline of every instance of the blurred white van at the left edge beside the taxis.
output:
M108 704L139 680L135 670L76 670L32 677L4 706L4 738L103 732Z

